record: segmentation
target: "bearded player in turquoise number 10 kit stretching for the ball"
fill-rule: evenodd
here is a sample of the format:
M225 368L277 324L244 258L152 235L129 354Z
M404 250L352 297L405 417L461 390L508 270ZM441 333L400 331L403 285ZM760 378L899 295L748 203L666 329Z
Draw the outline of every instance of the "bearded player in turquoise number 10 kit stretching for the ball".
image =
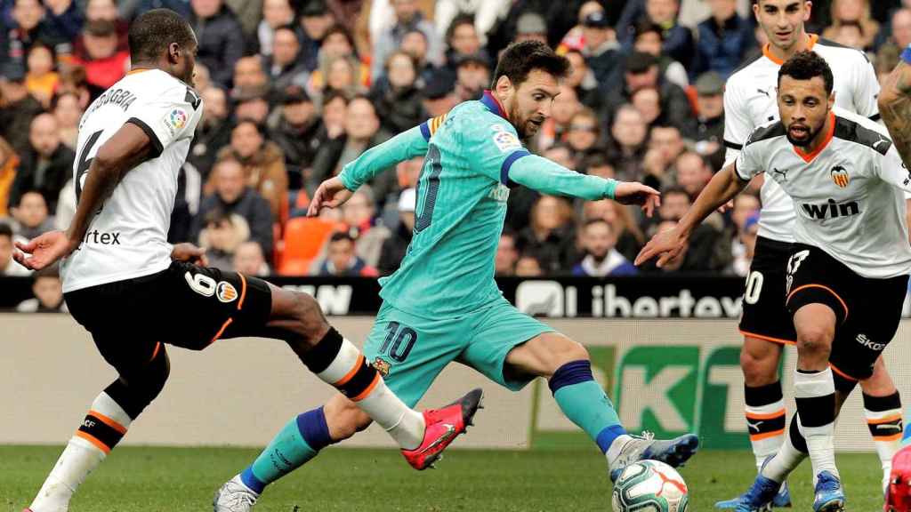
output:
M384 303L363 351L389 388L405 404L416 404L453 361L513 391L542 376L563 413L599 445L612 477L640 459L680 466L695 453L698 438L627 434L592 377L585 347L519 312L493 279L509 187L640 204L649 215L660 202L656 190L640 183L579 174L523 148L520 138L534 135L548 118L568 70L568 60L544 44L509 46L493 91L370 149L321 185L310 213L339 206L381 169L425 155L415 236L401 268L380 281ZM342 395L298 416L222 486L215 510L250 510L265 486L369 424Z

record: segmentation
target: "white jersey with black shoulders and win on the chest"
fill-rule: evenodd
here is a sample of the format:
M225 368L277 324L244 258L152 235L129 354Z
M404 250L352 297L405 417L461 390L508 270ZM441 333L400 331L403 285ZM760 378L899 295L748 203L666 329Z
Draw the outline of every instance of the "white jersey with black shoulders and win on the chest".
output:
M885 127L834 108L823 145L795 148L781 121L755 130L734 163L742 180L765 172L796 212L794 241L817 247L866 278L911 273L905 192L911 174Z

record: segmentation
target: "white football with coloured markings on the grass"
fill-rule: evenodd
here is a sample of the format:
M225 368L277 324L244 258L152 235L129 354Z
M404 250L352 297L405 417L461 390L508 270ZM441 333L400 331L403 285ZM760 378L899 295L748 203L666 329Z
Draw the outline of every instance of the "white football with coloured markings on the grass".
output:
M642 460L623 469L614 484L614 512L686 512L690 501L683 478L663 462Z

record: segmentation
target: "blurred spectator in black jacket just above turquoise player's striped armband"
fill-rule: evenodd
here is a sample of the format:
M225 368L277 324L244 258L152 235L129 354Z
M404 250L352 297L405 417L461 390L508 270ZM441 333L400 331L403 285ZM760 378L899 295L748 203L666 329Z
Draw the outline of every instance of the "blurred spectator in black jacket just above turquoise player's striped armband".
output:
M371 98L383 128L400 133L427 118L421 92L415 84L415 59L403 51L393 52L386 63L384 87L374 87Z

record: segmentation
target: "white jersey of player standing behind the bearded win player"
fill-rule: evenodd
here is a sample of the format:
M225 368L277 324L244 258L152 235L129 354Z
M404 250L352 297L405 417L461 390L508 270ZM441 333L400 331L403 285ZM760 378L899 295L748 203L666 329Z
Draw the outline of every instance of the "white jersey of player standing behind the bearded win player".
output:
M876 98L879 82L873 66L863 52L841 46L818 36L810 36L810 49L822 56L832 68L835 105L866 118L879 118ZM769 52L735 71L724 89L725 160L731 163L752 131L778 118L775 101L778 70L784 63ZM776 241L793 241L794 213L791 201L778 186L766 180L760 194L763 210L759 235Z

